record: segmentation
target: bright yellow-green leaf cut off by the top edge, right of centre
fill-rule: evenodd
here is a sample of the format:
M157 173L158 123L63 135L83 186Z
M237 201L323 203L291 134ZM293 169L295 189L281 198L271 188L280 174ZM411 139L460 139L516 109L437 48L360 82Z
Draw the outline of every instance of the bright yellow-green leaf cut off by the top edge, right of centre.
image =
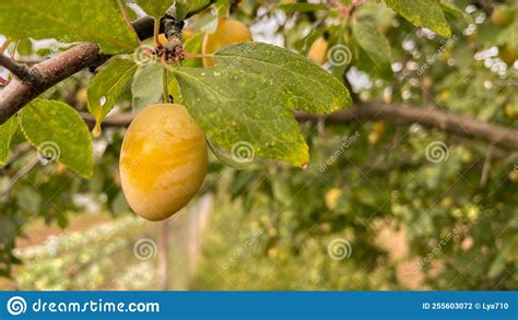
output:
M449 38L451 29L437 0L386 0L388 7L411 23Z

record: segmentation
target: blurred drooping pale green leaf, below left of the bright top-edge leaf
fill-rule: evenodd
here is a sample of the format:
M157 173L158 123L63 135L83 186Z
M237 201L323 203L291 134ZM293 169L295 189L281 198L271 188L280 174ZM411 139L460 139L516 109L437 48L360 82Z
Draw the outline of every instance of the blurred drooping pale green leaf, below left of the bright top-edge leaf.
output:
M358 46L364 49L376 64L390 69L391 50L387 38L381 35L372 20L358 19L353 23L353 35Z

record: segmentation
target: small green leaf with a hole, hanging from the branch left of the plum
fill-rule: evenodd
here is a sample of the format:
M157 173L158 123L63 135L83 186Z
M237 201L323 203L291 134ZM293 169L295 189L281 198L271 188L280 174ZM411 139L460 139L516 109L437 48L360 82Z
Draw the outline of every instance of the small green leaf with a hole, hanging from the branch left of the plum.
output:
M133 61L114 59L97 73L89 86L89 110L95 117L97 126L117 104L137 67Z

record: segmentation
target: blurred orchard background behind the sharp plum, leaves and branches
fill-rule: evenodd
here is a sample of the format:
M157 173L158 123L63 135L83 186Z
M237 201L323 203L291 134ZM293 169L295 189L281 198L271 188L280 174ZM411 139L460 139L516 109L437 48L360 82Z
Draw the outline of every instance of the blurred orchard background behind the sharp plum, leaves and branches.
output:
M432 106L518 129L516 1L442 1L449 39L382 2L293 2L245 0L231 14L255 40L309 56L355 102ZM200 51L221 14L187 22L188 51ZM362 17L375 27L358 36ZM7 54L36 63L69 47L26 38ZM161 75L140 72L132 85L158 86L160 96ZM82 71L44 96L86 110L92 79ZM139 98L127 90L113 114ZM397 120L301 122L306 170L255 158L246 145L251 162L240 168L211 153L199 197L165 223L126 203L125 128L95 138L92 180L45 161L17 133L0 169L0 288L517 289L516 147Z

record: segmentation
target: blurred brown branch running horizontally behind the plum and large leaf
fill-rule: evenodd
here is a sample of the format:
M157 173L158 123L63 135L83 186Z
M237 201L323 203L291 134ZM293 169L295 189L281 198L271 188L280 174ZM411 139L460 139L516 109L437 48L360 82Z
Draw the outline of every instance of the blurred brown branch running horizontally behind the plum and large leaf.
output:
M89 114L81 114L90 128L95 119ZM299 122L318 121L321 116L297 112ZM106 118L102 127L127 127L133 116L121 114ZM476 140L484 140L491 144L518 151L518 132L510 128L480 121L470 117L448 112L440 109L405 107L401 105L369 103L355 105L348 110L325 117L328 123L387 121L397 125L419 123L427 128L437 128L446 132Z

